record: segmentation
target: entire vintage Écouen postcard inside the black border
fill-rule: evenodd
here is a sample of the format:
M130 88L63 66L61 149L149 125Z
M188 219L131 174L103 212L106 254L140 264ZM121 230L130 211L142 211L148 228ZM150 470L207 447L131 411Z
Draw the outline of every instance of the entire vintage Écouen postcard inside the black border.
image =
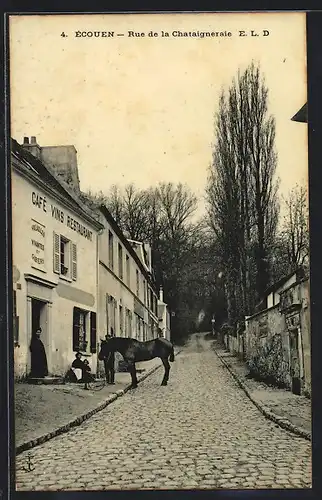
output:
M311 488L305 13L8 19L16 490Z

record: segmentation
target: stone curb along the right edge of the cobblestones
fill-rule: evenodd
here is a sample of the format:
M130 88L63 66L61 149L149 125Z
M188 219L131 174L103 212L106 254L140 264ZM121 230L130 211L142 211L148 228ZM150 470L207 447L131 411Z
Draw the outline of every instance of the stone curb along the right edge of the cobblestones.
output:
M305 429L301 427L297 427L296 425L292 424L289 420L280 417L279 415L276 415L276 413L272 412L270 408L265 406L262 403L259 403L251 394L251 391L248 389L247 385L241 380L239 375L237 375L233 369L229 366L229 364L226 362L226 360L217 352L215 347L213 347L214 352L216 353L217 357L220 359L222 364L227 368L229 373L233 376L237 384L243 389L243 391L246 393L248 398L252 401L252 403L258 408L258 410L269 420L272 420L275 422L277 425L282 427L283 429L286 429L290 432L293 432L293 434L297 434L298 436L306 439L307 441L311 441L311 434L306 431Z

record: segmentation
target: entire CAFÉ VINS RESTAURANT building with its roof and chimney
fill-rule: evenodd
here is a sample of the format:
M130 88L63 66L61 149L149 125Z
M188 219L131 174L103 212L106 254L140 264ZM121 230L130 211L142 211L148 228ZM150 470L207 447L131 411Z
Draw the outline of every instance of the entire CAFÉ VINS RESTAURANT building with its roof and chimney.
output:
M15 376L39 369L30 351L39 329L48 375L64 375L77 350L96 372L102 226L59 178L76 150L12 140L11 162Z

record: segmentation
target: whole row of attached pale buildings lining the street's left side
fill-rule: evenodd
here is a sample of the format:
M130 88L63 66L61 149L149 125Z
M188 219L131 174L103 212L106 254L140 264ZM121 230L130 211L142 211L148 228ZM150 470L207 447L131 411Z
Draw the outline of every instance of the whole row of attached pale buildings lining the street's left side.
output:
M40 147L35 137L23 146L12 141L17 377L31 371L38 327L52 376L66 373L76 351L100 372L97 349L106 334L146 341L161 326L170 338L149 245L128 240L106 207L86 202L76 153L74 146Z

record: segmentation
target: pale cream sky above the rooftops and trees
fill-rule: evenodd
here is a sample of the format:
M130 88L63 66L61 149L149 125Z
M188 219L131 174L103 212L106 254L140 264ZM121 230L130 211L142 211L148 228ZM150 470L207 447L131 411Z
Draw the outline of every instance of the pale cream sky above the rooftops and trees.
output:
M193 30L232 35L173 34ZM91 31L114 37L76 36ZM202 214L219 95L252 60L276 118L280 192L307 182L307 126L291 121L306 102L303 13L11 16L9 34L11 136L74 145L82 190L183 182Z

